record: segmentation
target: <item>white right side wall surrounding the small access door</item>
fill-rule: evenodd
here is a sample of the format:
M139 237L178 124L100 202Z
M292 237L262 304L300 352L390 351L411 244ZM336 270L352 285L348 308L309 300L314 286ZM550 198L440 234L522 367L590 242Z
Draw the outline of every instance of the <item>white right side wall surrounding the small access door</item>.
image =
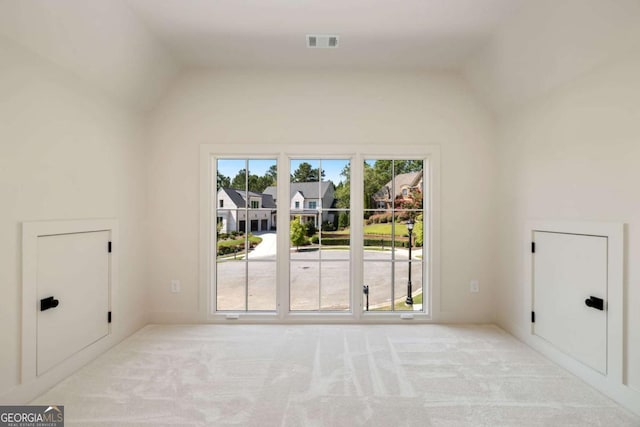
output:
M523 336L527 219L628 224L625 343L640 392L640 51L498 121L499 323Z

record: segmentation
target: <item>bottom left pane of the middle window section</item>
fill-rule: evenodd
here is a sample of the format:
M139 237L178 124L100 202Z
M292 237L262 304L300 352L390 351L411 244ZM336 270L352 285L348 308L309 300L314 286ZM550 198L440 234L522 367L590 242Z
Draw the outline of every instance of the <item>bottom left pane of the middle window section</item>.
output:
M320 264L316 261L295 261L291 263L292 311L318 310L320 307Z

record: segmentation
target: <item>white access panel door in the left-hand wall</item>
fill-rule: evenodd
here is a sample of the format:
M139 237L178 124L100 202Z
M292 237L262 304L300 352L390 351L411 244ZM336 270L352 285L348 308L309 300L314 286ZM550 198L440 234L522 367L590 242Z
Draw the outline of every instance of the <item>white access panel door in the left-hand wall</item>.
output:
M108 335L109 231L38 237L37 375ZM41 300L56 307L41 311Z

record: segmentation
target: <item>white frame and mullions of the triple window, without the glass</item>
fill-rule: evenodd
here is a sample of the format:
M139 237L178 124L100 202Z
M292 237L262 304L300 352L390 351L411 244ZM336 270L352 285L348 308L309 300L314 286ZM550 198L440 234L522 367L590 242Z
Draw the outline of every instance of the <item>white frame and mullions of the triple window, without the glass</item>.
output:
M351 310L349 312L291 312L289 311L289 257L279 255L276 262L278 285L276 290L276 312L215 312L215 227L217 204L215 200L216 162L215 159L248 158L276 159L278 165L278 185L276 200L290 200L289 162L293 159L349 159L351 162ZM425 239L424 249L429 254L423 261L425 286L424 312L364 312L362 297L363 277L363 162L365 159L380 158L389 160L424 160L425 212L428 221L429 237ZM276 216L278 230L278 254L289 251L290 203L286 203ZM198 316L201 322L208 323L400 323L407 320L413 323L428 323L442 318L440 313L440 147L428 144L203 144L200 147L200 269ZM360 285L359 285L360 283Z

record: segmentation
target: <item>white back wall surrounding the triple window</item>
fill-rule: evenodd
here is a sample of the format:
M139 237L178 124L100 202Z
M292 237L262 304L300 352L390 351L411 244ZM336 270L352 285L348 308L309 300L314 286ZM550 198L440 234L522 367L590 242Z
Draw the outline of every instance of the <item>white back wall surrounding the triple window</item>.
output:
M442 309L491 321L493 124L452 74L198 72L182 76L149 123L153 321L198 310L200 144L394 144L442 147ZM170 280L182 293L169 292ZM469 293L480 280L481 292Z

